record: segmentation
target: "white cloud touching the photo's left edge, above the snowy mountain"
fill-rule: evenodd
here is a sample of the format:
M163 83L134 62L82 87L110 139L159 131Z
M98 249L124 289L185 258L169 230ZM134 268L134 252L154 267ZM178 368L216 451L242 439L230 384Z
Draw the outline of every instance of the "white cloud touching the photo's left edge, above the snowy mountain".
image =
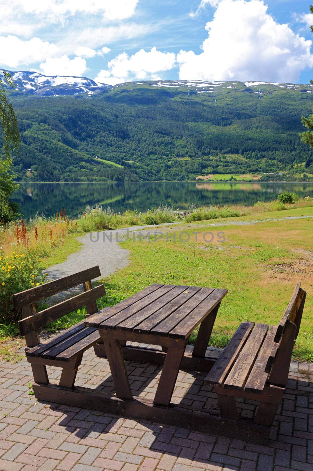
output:
M16 36L0 36L0 64L8 67L29 65L55 55L57 47L40 38L21 41Z

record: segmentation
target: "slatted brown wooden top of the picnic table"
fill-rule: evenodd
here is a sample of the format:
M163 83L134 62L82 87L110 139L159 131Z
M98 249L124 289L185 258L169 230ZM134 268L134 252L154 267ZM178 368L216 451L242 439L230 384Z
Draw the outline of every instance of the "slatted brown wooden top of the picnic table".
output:
M226 289L151 284L89 317L85 325L186 339L226 294Z

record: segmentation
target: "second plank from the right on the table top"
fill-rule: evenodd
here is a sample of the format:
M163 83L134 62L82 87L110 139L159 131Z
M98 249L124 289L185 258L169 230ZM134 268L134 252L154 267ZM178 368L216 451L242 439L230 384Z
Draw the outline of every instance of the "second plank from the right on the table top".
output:
M201 290L196 292L191 299L186 301L181 307L173 312L170 317L167 317L160 324L153 327L151 330L152 335L167 337L169 332L174 329L179 322L185 319L193 309L199 306L199 304L213 291L214 288L201 288Z

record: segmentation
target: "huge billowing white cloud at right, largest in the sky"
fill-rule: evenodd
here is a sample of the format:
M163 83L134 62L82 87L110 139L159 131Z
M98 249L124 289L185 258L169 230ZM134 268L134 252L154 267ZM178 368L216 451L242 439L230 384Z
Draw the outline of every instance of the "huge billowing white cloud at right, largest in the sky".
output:
M261 0L221 0L201 54L177 55L181 80L258 80L296 82L313 66L312 41L278 24Z

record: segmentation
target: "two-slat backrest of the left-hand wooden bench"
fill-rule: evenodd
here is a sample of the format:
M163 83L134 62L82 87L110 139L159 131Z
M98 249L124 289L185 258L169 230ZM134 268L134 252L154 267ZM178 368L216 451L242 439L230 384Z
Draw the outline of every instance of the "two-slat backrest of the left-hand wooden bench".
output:
M99 267L88 268L74 275L64 276L57 280L41 284L26 291L13 295L13 303L16 309L22 309L23 319L18 321L22 335L25 335L27 347L35 347L40 344L38 329L52 321L69 314L75 309L87 309L87 316L98 311L96 300L105 295L104 285L92 287L91 280L101 276ZM35 303L54 296L60 292L83 284L84 292L51 306L40 312L36 312Z

